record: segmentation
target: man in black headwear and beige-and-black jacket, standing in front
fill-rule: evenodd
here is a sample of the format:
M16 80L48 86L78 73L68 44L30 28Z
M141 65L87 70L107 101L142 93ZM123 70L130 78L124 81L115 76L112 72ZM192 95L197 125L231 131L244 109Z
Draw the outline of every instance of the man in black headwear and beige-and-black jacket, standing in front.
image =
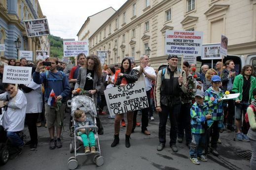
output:
M170 146L174 152L178 152L177 140L177 117L181 109L181 90L186 93L186 74L178 68L178 57L169 55L167 57L168 66L160 70L157 74L154 98L155 109L159 112L159 144L157 150L161 151L165 147L166 122L168 115L171 122ZM182 76L181 76L182 75Z

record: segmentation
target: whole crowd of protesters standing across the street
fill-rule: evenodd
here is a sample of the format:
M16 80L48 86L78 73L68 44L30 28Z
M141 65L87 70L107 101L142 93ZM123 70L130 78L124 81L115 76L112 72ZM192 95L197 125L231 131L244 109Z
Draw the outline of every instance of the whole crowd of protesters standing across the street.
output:
M111 147L119 143L120 126L127 126L126 147L131 146L130 136L136 126L141 126L143 134L150 135L148 120L153 121L153 113L158 112L158 151L163 150L167 142L168 118L171 123L171 149L178 152L176 142L185 141L190 160L197 165L200 164L199 161L207 161L209 152L219 155L219 132L235 130L237 140L251 142L253 154L250 163L251 168L256 169L256 78L253 76L253 66L245 65L239 74L234 71L234 61L227 60L225 63L217 62L215 69L202 65L199 73L196 71L196 64L183 62L183 67L180 68L178 57L169 55L168 65L158 71L150 67L146 55L140 57L138 66L129 58L124 58L120 67L109 67L107 64L102 67L97 56L86 57L79 54L77 64L67 71L67 64L59 63L57 58L47 57L46 60L51 63L50 66L44 66L43 60L34 64L27 62L25 58L0 62L0 100L4 100L7 111L4 118L8 119L4 121L3 128L6 130L6 137L18 148L16 156L21 153L23 146L30 146L31 150L37 148L37 127L41 123L49 131L49 149L62 147L61 133L66 101L72 95L81 93L77 89L83 89L85 95L93 97L99 109L98 114L106 115L108 109L105 89L145 81L148 108L126 113L127 124L123 114L109 116L114 119L114 141ZM18 90L13 84L3 84L4 65L32 67L31 83L18 85ZM240 95L235 100L223 100L225 95L232 93ZM51 106L52 97L56 99L58 109ZM15 112L21 113L19 117ZM137 121L138 112L142 113L141 123ZM249 121L246 121L246 113ZM25 121L31 139L26 143L18 134L24 129ZM99 116L97 126L98 134L104 134ZM72 135L71 125L70 130Z

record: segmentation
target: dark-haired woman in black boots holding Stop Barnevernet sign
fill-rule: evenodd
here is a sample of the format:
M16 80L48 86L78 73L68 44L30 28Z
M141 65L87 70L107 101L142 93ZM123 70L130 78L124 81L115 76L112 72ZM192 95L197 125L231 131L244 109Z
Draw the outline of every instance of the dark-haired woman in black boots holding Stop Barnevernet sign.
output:
M127 84L135 83L138 80L138 75L136 70L131 69L131 60L129 58L124 58L121 64L121 71L118 74L118 78L115 85L125 86ZM133 127L133 113L127 113L127 128L125 134L125 146L130 147L130 135ZM111 147L116 146L119 143L119 131L120 131L120 121L123 113L116 114L114 119L114 141Z

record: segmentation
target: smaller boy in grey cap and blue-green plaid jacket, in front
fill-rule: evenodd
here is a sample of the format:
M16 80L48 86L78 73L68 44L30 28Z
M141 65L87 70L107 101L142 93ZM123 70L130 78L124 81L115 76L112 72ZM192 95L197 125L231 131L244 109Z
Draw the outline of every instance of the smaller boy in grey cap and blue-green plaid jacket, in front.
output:
M197 90L195 93L195 103L190 109L191 115L191 131L192 142L190 144L190 160L199 165L201 161L206 162L207 159L203 153L205 145L205 126L207 126L207 120L212 118L211 114L208 114L208 106L204 103L204 92Z

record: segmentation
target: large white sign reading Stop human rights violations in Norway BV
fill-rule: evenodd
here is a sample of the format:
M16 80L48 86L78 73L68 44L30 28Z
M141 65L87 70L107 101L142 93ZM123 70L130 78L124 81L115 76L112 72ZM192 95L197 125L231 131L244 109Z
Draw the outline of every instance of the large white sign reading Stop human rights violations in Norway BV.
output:
M203 32L166 30L165 53L167 55L201 56Z

